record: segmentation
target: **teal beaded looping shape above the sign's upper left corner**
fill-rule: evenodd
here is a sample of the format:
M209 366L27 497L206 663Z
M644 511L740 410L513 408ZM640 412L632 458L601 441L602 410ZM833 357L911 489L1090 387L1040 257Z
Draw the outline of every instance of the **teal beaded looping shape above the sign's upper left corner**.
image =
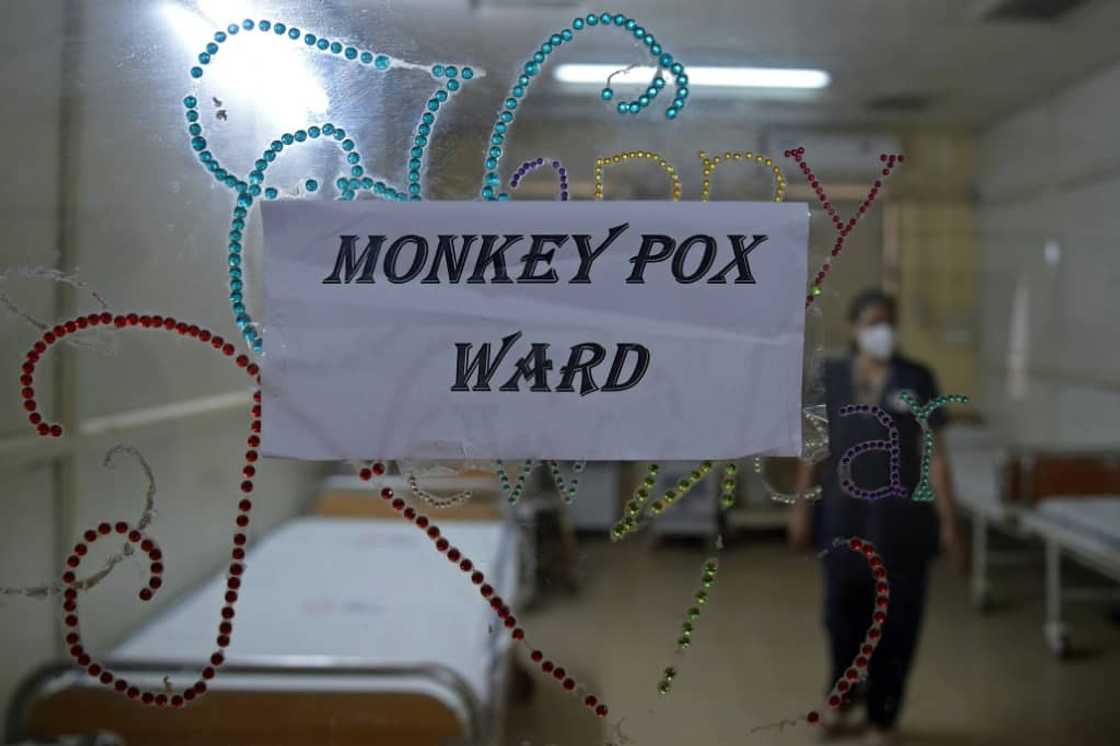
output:
M204 67L214 60L214 57L221 50L220 45L232 43L233 38L242 30L248 32L254 28L265 34L271 29L279 38L287 38L296 43L302 41L302 45L308 49L325 54L329 53L346 62L360 63L362 66L377 73L384 73L394 68L424 69L439 83L432 96L424 104L426 111L421 114L417 123L412 148L409 150L409 185L407 188L396 188L382 179L374 179L367 175L361 165L362 156L356 150L354 140L346 137L346 131L340 127L336 127L333 122L324 122L309 127L306 130L299 129L295 132L284 132L265 148L245 178L237 178L223 168L217 157L207 149L208 143L203 136L203 125L199 121L198 99L192 94L183 100L183 104L187 110L187 133L190 138L192 149L198 153L199 162L206 170L214 175L215 180L236 193L233 220L230 225L228 254L226 258L230 276L230 306L233 310L237 328L241 329L245 342L254 353L261 353L264 344L263 338L258 330L256 323L253 321L252 316L245 308L244 296L242 293L244 281L242 279L243 270L241 267L241 242L245 231L245 222L249 217L249 207L253 204L253 201L262 195L265 199L274 199L279 196L279 192L274 187L263 186L269 165L277 159L277 156L286 147L314 142L321 136L325 140L334 139L346 155L346 161L349 164L349 170L335 180L335 186L338 188L342 199L354 199L362 192L372 193L375 197L383 199L420 199L422 196L420 174L427 153L429 136L436 123L436 115L440 108L461 90L464 83L476 77L476 71L466 66L460 69L456 65L444 64L432 65L429 68L396 59L385 54L375 55L370 50L360 50L355 46L343 44L342 41L332 41L325 37L317 37L315 34L301 34L300 29L295 27L289 28L279 21L261 20L254 22L252 19L246 18L240 26L231 24L226 27L225 31L216 31L214 34L214 41L207 44L206 49L198 55L199 65L190 68L190 77L195 81L203 77ZM477 73L477 75L480 74L480 72ZM319 188L318 181L315 179L307 179L304 186L308 193L315 193Z

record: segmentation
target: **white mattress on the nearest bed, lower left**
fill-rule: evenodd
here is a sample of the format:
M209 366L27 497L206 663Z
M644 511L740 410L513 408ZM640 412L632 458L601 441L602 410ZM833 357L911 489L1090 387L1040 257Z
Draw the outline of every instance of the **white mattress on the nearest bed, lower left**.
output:
M438 517L438 516L437 516ZM503 599L517 586L516 532L502 522L448 522L444 535L469 557ZM439 664L461 677L485 706L493 666L508 635L488 604L427 535L402 520L300 517L252 547L235 606L228 663L274 659L299 664ZM174 569L172 569L174 571ZM215 650L225 576L162 612L113 651L121 661L199 662ZM136 678L136 677L130 677ZM178 677L172 677L179 683ZM215 688L409 691L458 699L423 678L239 675Z

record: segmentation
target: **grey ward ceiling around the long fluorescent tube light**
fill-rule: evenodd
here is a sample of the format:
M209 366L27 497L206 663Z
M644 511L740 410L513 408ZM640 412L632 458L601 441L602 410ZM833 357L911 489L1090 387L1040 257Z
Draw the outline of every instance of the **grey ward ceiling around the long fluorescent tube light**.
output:
M610 10L635 17L685 65L831 73L824 92L786 100L692 91L690 106L704 115L768 123L982 127L1120 59L1116 0L1075 2L1048 21L984 18L1000 1L1008 0L624 0ZM503 85L549 34L600 9L567 0L352 0L345 8L354 26L389 26L408 38L410 50L446 56L454 48L463 50L457 58L480 57ZM557 60L626 65L648 55L628 36L598 32L584 34L577 48L553 55ZM550 103L534 113L584 116L601 108L596 87L550 81L548 90ZM874 108L876 100L894 108Z

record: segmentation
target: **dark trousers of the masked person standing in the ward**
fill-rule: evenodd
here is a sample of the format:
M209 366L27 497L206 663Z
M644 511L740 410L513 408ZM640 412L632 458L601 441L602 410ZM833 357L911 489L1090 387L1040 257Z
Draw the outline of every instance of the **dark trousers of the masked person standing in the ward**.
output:
M867 681L855 697L867 702L867 719L890 728L898 719L906 675L917 649L925 609L927 562L884 561L890 582L890 605L883 638L871 656ZM848 551L824 559L824 626L832 653L829 688L851 666L871 624L875 585L866 560Z

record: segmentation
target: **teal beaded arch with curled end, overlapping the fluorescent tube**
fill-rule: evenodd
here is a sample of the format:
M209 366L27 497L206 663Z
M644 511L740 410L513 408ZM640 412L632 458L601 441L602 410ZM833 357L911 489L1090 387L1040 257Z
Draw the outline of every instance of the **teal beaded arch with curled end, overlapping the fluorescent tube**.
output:
M684 65L674 60L673 55L665 52L651 31L647 31L636 20L627 18L623 13L614 16L610 13L588 13L585 17L577 17L572 19L571 28L562 28L560 31L549 36L541 44L540 48L525 60L521 75L517 76L516 82L510 90L510 95L503 102L502 109L498 110L494 128L491 130L489 148L486 150L485 159L483 160L483 186L479 194L484 199L510 198L510 195L505 192L497 190L502 184L502 177L498 175L497 167L498 161L502 159L502 146L505 143L505 138L513 125L513 120L517 115L519 102L529 92L529 86L532 84L533 78L541 74L541 71L548 63L549 56L553 52L562 45L575 40L576 34L595 28L617 28L631 34L635 39L645 45L657 63L659 71L654 74L645 93L634 101L619 101L615 105L618 113L637 114L643 109L646 109L665 86L665 78L662 76L661 71L668 71L672 75L673 83L676 86L676 95L673 97L672 104L665 109L665 119L676 119L681 110L684 109L684 102L689 96L689 76L684 72ZM614 99L614 91L608 86L600 93L600 99L605 102L612 101Z

